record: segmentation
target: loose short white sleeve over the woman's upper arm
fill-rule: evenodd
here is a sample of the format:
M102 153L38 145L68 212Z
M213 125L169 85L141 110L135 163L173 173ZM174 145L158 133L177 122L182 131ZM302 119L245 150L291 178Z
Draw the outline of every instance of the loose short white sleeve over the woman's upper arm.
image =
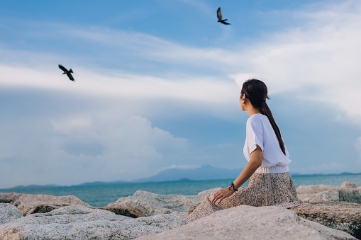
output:
M249 119L246 127L246 138L250 154L260 146L263 152L263 125L262 122L253 118Z

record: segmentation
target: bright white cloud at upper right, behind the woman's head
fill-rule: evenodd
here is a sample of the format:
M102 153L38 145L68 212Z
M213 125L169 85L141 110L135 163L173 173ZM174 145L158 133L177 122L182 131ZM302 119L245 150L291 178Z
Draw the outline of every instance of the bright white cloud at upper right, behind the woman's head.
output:
M238 84L250 76L264 79L271 94L305 89L294 97L340 105L350 118L359 118L361 4L348 1L324 8L294 13L309 23L250 47L243 53L248 59L245 72L231 78ZM355 122L361 126L359 120Z

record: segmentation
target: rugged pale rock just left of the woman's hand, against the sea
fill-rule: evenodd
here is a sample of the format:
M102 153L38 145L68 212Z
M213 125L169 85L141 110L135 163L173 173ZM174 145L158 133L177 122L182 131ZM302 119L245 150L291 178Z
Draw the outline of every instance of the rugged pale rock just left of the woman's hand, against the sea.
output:
M216 193L221 188L205 190L198 195L161 195L138 190L133 196L119 198L115 203L106 207L135 207L145 216L173 214L182 218L187 217L187 211L191 206L204 200L205 196Z

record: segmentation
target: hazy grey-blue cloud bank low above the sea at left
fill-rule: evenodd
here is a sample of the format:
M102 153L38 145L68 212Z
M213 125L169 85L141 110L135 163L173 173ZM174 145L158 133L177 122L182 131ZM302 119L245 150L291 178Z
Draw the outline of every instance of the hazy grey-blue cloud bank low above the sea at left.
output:
M0 188L26 184L23 177L14 178L14 173L26 176L28 184L70 185L148 177L182 159L179 153L187 154L191 147L187 139L174 137L136 116L116 120L82 118L71 127L63 119L52 122L27 122L23 131L13 129L1 135ZM86 124L79 127L79 122ZM52 132L50 126L54 127ZM11 136L16 136L13 142ZM179 157L174 158L174 154Z

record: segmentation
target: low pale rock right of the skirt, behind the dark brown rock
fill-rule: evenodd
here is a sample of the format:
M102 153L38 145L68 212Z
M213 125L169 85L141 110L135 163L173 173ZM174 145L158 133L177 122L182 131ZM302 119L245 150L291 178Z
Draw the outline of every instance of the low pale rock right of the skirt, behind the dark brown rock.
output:
M361 190L358 188L340 188L331 185L300 185L296 189L297 197L304 202L344 201L361 203Z

